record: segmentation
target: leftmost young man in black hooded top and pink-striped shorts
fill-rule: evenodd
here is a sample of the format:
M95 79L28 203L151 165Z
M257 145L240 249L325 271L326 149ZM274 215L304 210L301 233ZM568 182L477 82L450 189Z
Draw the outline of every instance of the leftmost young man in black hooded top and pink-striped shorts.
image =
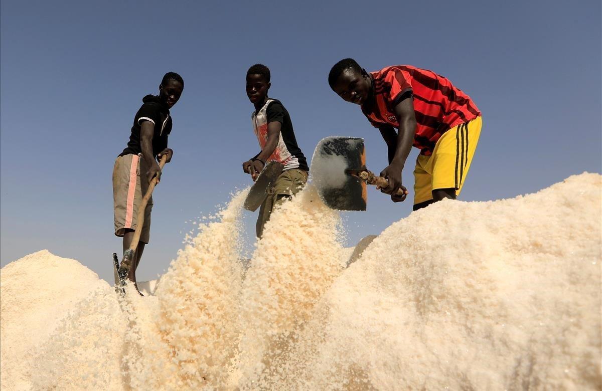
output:
M137 209L151 179L157 176L157 183L161 179L161 168L157 161L163 155L167 155L167 162L172 159L173 150L167 148L167 137L172 132L169 109L178 102L182 90L184 80L178 73L169 72L159 85L159 95L147 95L142 99L143 105L134 116L128 146L117 156L113 168L115 235L123 236L123 251L131 245L134 230L142 230L135 250L135 262L132 262L128 275L134 284L144 245L149 242L152 197L144 209L142 227L137 226Z

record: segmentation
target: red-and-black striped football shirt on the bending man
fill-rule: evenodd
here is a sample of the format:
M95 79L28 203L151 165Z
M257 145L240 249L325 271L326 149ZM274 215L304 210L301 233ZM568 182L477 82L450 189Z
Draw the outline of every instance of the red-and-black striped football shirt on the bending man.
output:
M374 128L387 124L399 129L395 106L411 94L417 122L413 145L421 155L433 153L449 129L481 115L467 94L430 70L396 65L370 74L374 99L362 105L362 112Z

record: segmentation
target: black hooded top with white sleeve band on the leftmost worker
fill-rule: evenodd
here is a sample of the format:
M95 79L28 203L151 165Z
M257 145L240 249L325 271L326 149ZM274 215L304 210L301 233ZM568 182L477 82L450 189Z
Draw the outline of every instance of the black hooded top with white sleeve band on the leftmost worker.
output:
M172 117L169 115L169 109L155 95L145 96L142 102L143 105L140 106L134 117L134 126L132 126L132 133L129 136L128 147L119 156L138 155L142 152L140 124L143 121L149 121L155 125L155 133L152 138L153 157L156 157L158 153L167 148L167 137L172 132Z

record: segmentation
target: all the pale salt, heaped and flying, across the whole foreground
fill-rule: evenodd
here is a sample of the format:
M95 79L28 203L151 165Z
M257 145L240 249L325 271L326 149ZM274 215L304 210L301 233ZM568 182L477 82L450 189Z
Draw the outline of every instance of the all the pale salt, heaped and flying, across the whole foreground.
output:
M308 186L243 269L242 192L152 297L30 254L0 273L1 388L600 389L601 179L434 204L349 268Z

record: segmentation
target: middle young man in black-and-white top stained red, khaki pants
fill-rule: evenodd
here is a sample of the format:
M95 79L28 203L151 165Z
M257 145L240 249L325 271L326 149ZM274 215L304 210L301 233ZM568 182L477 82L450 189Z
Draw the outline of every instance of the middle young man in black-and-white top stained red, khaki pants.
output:
M251 174L255 180L263 170L265 162L278 161L284 165L284 171L276 179L270 194L259 209L256 224L258 238L261 238L264 225L270 220L273 209L305 186L309 170L305 156L297 146L293 123L287 109L279 100L267 96L271 85L268 67L256 64L249 68L247 96L255 106L251 121L261 152L243 163L243 171Z

